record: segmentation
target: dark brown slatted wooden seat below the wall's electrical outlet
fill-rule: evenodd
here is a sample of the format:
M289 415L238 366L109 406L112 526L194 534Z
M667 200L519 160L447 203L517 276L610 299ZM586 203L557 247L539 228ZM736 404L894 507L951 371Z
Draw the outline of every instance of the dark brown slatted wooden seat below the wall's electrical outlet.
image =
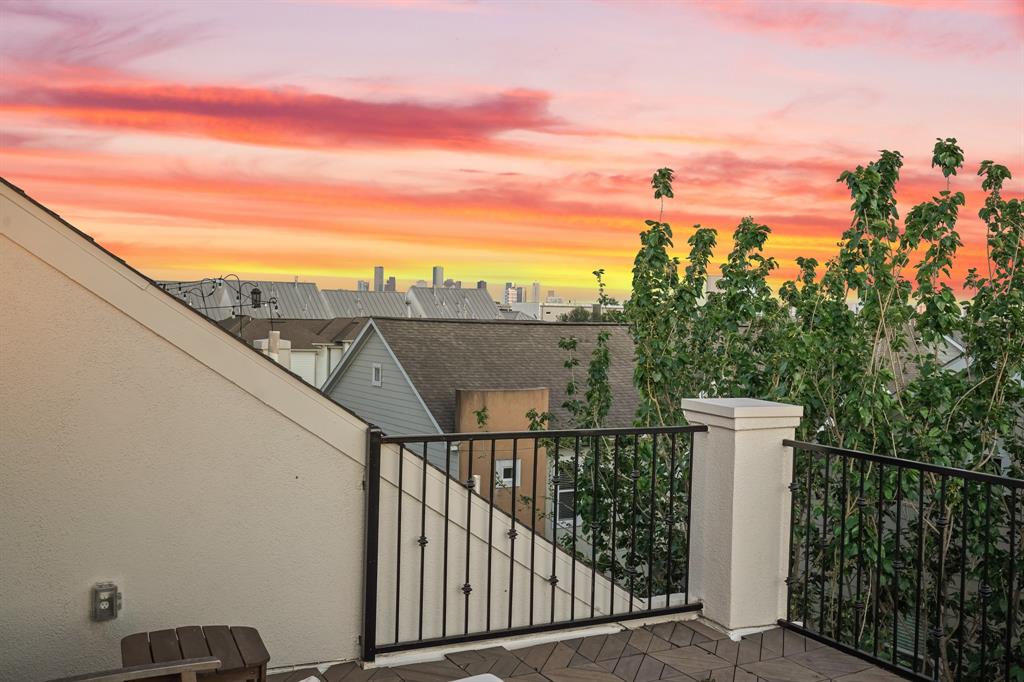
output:
M187 626L129 635L121 640L124 666L174 663L213 656L215 670L200 674L209 682L266 682L270 654L255 628ZM176 677L160 678L176 682Z

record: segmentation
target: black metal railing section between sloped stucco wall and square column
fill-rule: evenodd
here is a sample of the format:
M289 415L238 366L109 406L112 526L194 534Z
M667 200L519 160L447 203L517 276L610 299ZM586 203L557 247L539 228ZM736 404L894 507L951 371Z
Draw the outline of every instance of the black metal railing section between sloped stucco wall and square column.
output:
M364 659L699 609L690 472L706 430L372 428Z

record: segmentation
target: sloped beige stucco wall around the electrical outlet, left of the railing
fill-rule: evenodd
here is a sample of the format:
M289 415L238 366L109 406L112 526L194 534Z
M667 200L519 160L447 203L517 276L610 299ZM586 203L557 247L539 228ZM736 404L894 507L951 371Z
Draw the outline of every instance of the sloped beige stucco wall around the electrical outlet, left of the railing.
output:
M364 425L0 186L0 680L129 633L357 654ZM115 581L120 617L89 619Z

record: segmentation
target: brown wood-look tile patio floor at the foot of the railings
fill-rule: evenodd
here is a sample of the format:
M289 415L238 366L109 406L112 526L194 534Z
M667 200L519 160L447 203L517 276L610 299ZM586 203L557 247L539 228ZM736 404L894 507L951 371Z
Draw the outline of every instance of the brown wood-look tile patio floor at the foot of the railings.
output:
M490 673L507 682L896 682L901 678L775 629L733 642L697 621L670 622L612 635L508 650L460 651L444 660L361 670L339 664L271 675L268 682L450 682Z

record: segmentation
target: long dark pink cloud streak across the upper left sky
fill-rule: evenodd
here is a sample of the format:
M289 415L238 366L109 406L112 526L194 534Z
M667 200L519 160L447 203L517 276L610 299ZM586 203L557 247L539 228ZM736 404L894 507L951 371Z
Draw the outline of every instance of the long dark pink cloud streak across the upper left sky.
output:
M92 128L145 130L269 146L430 146L495 151L513 130L558 120L546 92L513 89L471 101L371 101L296 89L159 82L24 84L0 110Z

